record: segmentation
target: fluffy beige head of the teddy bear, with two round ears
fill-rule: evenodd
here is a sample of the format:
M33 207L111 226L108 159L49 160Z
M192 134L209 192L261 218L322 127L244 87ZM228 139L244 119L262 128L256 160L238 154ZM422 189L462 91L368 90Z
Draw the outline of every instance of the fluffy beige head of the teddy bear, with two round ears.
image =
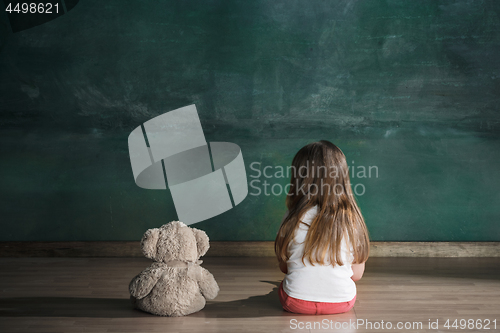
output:
M209 246L208 236L204 231L190 228L179 221L149 229L141 240L144 255L158 262L194 262L207 253Z

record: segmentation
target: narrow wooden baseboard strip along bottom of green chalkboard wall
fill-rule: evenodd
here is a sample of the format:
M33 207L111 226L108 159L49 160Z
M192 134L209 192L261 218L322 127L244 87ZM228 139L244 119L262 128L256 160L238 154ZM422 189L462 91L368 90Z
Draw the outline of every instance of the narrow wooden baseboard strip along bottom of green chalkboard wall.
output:
M210 242L209 257L273 257L273 242ZM500 242L372 242L371 257L500 257ZM0 257L143 257L139 242L0 242Z

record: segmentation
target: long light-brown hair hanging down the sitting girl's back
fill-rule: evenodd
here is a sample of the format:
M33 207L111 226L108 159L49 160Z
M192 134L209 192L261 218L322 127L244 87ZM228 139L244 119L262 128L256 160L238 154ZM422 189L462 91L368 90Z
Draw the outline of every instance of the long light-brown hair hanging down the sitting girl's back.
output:
M342 266L341 244L346 236L354 250L353 263L365 262L370 251L368 230L351 190L344 153L329 141L314 142L299 150L291 169L288 215L274 242L278 259L288 260L288 245L301 217L317 205L318 214L304 241L302 262L307 259L312 265L324 265L328 259L328 264Z

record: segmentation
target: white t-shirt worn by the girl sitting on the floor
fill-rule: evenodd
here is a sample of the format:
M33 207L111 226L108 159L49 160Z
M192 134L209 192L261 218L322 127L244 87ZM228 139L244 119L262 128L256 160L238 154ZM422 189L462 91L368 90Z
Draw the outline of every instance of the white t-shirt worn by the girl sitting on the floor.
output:
M342 262L344 265L319 265L304 259L304 240L309 226L318 212L315 206L303 216L295 232L294 241L288 246L290 258L287 261L288 273L283 280L283 290L290 297L313 302L348 302L356 296L356 284L351 279L353 275L351 264L353 261L352 246L342 242ZM343 238L346 239L346 238ZM328 259L328 256L327 256ZM328 260L325 260L328 262Z

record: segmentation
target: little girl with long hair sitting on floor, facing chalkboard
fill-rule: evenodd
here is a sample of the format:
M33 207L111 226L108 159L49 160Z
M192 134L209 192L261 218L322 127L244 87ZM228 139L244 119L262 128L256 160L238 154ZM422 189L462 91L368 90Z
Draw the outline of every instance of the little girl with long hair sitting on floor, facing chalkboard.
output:
M344 153L329 141L308 144L292 162L287 214L274 248L285 278L283 309L303 314L349 311L370 250Z

